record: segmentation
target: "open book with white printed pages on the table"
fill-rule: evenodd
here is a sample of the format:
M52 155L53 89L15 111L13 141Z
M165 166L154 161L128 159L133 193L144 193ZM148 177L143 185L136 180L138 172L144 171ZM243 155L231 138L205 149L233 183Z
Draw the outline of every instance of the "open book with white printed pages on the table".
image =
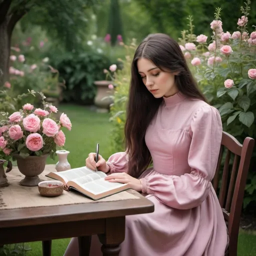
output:
M98 200L129 188L128 184L104 180L104 177L107 176L104 172L94 171L86 166L50 172L45 176L60 180L68 189L75 189L93 200Z

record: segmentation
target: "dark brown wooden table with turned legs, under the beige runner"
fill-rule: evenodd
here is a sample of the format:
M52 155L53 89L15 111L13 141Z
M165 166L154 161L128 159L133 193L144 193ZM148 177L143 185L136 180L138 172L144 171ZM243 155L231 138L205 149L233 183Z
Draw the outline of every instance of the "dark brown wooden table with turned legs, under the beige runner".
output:
M51 239L78 236L79 255L85 256L90 236L98 234L103 255L117 256L124 240L125 215L154 210L150 200L132 193L139 198L0 210L0 245L41 240L43 256L50 256Z

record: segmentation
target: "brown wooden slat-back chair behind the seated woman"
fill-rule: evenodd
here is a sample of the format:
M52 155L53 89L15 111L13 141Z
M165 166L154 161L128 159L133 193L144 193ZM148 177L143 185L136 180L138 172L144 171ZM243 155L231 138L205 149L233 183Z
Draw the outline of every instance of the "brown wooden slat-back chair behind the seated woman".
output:
M221 186L218 193L217 190L219 183L219 169L221 165L224 147L227 149L227 151L224 161ZM229 133L224 131L222 133L217 168L214 178L212 180L212 184L215 192L218 195L218 200L222 208L222 212L228 229L229 246L228 252L225 255L229 256L237 255L237 240L239 232L240 214L253 147L254 139L251 137L246 137L243 141L243 144L241 144L235 137L233 137ZM229 171L228 167L231 154L234 154L234 158L232 169L231 171Z

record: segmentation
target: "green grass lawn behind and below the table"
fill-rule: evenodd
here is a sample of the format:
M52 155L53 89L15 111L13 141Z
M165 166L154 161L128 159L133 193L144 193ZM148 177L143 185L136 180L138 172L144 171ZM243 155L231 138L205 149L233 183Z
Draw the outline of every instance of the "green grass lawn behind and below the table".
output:
M89 152L94 152L96 143L99 143L99 153L106 159L109 150L109 132L111 123L107 113L96 113L89 108L78 105L61 105L60 111L67 114L72 122L72 129L63 129L66 135L65 149L70 151L68 161L71 167L84 165ZM56 163L48 159L47 163ZM52 240L52 255L62 256L69 242L69 238ZM29 242L32 248L27 256L41 256L41 242ZM240 231L238 240L238 256L254 256L256 251L256 235Z

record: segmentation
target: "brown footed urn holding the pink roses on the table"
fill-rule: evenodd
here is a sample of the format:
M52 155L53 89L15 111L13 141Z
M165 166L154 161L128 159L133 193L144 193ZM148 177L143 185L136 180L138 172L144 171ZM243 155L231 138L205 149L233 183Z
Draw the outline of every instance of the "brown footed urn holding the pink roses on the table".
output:
M43 181L38 175L41 174L45 168L48 154L40 156L29 155L24 158L19 154L13 154L13 156L17 160L18 170L25 175L25 177L19 181L20 185L37 186L39 182Z

